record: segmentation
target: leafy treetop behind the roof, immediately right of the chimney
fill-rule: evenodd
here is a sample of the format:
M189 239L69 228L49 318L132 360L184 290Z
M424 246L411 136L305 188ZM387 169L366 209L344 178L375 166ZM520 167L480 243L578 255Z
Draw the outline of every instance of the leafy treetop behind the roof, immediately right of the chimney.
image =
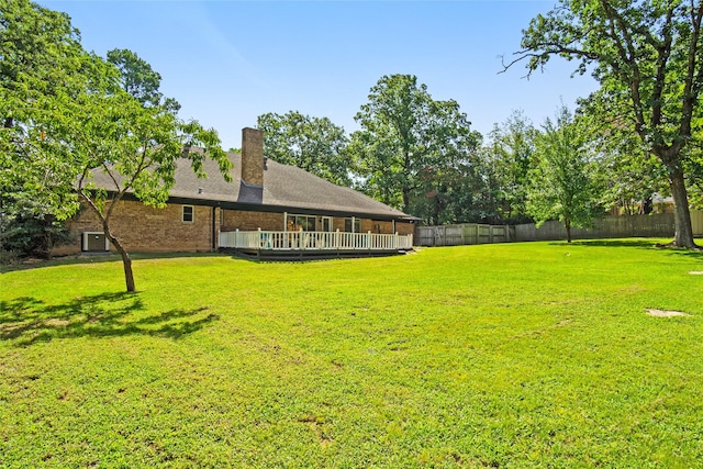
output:
M346 152L344 129L327 118L311 118L298 111L259 115L264 154L283 165L297 166L339 186L352 186L352 160Z

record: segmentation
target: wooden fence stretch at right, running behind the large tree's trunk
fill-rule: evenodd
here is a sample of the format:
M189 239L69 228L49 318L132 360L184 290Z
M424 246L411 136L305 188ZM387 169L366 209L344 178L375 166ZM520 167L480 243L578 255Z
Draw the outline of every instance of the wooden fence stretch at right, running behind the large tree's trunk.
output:
M692 210L691 222L694 236L703 236L703 212ZM649 215L605 216L596 220L592 228L571 228L573 239L609 237L670 237L673 236L673 213L651 213ZM567 231L561 222L545 222L537 227L534 223L515 226L516 241L566 239Z

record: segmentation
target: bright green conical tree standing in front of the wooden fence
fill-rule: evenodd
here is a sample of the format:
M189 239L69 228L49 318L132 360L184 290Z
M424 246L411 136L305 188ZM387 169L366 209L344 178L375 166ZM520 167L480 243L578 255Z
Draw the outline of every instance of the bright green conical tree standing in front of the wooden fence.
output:
M585 132L566 107L556 122L547 119L536 139L535 165L529 172L527 211L537 226L559 220L571 243L571 227L587 227L602 214L600 191L589 161Z

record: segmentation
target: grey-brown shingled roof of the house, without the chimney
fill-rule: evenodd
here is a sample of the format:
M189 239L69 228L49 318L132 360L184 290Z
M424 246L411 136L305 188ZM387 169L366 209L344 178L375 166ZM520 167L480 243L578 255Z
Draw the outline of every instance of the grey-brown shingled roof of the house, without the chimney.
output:
M205 159L207 179L199 179L188 159L177 161L171 201L192 204L219 204L225 209L289 211L320 215L368 216L380 220L417 220L400 210L373 200L354 189L336 186L298 167L266 159L264 185L249 186L242 180L242 155L228 153L234 164L232 182L225 181L216 163ZM110 187L104 175L96 183Z

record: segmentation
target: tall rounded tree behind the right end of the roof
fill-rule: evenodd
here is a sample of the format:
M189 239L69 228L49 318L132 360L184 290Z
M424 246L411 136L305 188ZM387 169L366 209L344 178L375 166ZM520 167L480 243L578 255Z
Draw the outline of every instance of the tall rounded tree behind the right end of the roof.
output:
M444 169L467 164L480 139L456 101L433 100L427 87L411 75L381 77L355 120L361 130L352 135L350 150L362 190L408 213L414 198L432 198L431 192L446 188ZM432 178L433 174L442 179ZM428 185L434 185L429 192Z

